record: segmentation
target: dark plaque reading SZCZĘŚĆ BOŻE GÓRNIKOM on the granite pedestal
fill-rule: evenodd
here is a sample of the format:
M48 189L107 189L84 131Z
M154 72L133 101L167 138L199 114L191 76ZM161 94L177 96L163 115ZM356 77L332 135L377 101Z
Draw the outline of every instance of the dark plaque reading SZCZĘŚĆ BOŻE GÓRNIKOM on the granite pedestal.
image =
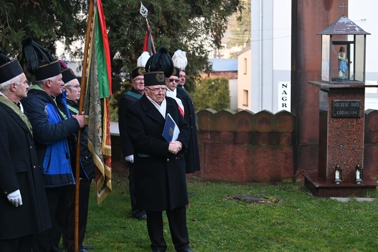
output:
M333 100L332 117L361 117L361 100Z

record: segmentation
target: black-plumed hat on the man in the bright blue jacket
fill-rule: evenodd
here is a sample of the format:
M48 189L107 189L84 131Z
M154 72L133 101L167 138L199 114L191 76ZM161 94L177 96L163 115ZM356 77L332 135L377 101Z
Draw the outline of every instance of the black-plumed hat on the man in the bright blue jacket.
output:
M22 55L26 62L26 69L31 75L35 75L37 81L61 73L58 60L31 37L27 36L22 40Z

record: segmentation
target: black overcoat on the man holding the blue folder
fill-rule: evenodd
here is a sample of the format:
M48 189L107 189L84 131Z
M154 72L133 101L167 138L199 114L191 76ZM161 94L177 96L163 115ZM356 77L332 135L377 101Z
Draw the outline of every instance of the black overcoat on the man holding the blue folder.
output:
M127 128L134 146L137 207L148 211L164 211L188 204L185 161L190 131L174 99L166 97L166 114L178 125L177 141L181 151L168 152L169 143L162 137L165 119L146 95L127 108Z

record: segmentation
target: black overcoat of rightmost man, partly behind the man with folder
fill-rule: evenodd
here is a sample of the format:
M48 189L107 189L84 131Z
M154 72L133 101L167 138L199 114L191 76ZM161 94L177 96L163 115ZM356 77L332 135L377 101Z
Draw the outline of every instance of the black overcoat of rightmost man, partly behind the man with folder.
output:
M177 86L177 98L182 101L185 111L184 118L191 128L191 138L184 154L186 173L194 173L201 169L197 140L196 110L190 96L181 86Z

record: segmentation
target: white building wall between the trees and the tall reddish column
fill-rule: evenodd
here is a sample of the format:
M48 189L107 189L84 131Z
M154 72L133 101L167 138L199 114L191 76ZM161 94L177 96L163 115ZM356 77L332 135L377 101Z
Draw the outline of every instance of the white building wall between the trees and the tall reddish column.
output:
M278 83L290 81L291 0L251 0L251 5L254 6L251 10L251 110L275 113L281 110Z

